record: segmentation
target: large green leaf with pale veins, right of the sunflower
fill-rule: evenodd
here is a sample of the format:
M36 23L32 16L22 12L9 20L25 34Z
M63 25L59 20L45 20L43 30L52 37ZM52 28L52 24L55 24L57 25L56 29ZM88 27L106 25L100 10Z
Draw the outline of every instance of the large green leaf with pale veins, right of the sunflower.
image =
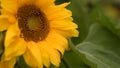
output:
M120 68L120 39L99 24L91 26L87 38L76 48L92 68Z

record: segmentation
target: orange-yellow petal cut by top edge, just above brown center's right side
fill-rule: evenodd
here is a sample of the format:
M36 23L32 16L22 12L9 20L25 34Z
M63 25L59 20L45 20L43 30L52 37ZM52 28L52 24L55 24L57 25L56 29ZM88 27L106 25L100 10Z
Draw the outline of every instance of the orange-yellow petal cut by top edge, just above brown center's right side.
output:
M53 5L55 0L37 0L36 5L40 7L40 9L46 9L50 5Z

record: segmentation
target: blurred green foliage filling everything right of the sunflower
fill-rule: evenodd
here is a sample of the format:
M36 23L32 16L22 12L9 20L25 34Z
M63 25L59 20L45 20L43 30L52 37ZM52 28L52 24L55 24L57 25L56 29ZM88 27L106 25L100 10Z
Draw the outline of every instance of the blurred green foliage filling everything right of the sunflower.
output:
M120 68L120 0L57 0L78 24L60 68Z

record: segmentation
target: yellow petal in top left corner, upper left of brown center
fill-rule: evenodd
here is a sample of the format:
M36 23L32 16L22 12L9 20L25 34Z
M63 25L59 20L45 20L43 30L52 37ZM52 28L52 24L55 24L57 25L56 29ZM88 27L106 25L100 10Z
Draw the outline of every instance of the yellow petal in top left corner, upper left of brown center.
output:
M1 6L9 12L16 13L18 9L18 0L2 0Z

